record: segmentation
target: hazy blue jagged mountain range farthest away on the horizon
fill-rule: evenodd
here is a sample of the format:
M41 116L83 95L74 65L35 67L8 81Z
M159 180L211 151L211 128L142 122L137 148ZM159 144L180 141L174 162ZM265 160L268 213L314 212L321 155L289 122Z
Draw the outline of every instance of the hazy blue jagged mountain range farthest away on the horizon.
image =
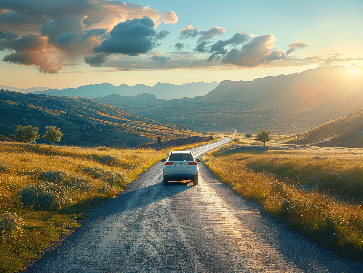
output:
M157 99L171 100L171 99L180 99L184 97L193 98L195 96L204 96L209 91L213 90L217 85L218 85L217 82L212 82L212 83L193 82L193 83L185 83L183 85L175 85L170 83L159 82L155 84L153 87L150 87L146 86L145 84L136 84L135 86L121 84L120 86L114 86L111 83L101 83L101 84L81 86L78 88L66 88L63 90L49 89L49 90L35 91L32 93L52 95L52 96L76 96L76 97L81 96L86 98L96 98L112 94L119 96L136 96L142 93L149 93L149 94L154 94Z

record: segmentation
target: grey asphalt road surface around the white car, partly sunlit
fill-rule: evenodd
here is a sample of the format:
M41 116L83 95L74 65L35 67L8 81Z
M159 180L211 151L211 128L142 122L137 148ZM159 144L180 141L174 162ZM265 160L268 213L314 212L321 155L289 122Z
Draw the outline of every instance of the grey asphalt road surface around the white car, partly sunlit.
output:
M213 144L192 151L201 158ZM197 186L164 186L162 164L102 203L29 272L363 272L264 215L204 164Z

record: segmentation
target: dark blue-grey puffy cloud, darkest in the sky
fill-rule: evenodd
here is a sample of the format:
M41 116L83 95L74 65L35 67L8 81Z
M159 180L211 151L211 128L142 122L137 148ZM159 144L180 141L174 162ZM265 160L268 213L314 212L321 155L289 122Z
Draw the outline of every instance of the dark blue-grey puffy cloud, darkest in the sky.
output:
M121 53L137 56L152 50L158 38L151 18L135 18L118 23L111 30L111 37L94 47L95 53Z

